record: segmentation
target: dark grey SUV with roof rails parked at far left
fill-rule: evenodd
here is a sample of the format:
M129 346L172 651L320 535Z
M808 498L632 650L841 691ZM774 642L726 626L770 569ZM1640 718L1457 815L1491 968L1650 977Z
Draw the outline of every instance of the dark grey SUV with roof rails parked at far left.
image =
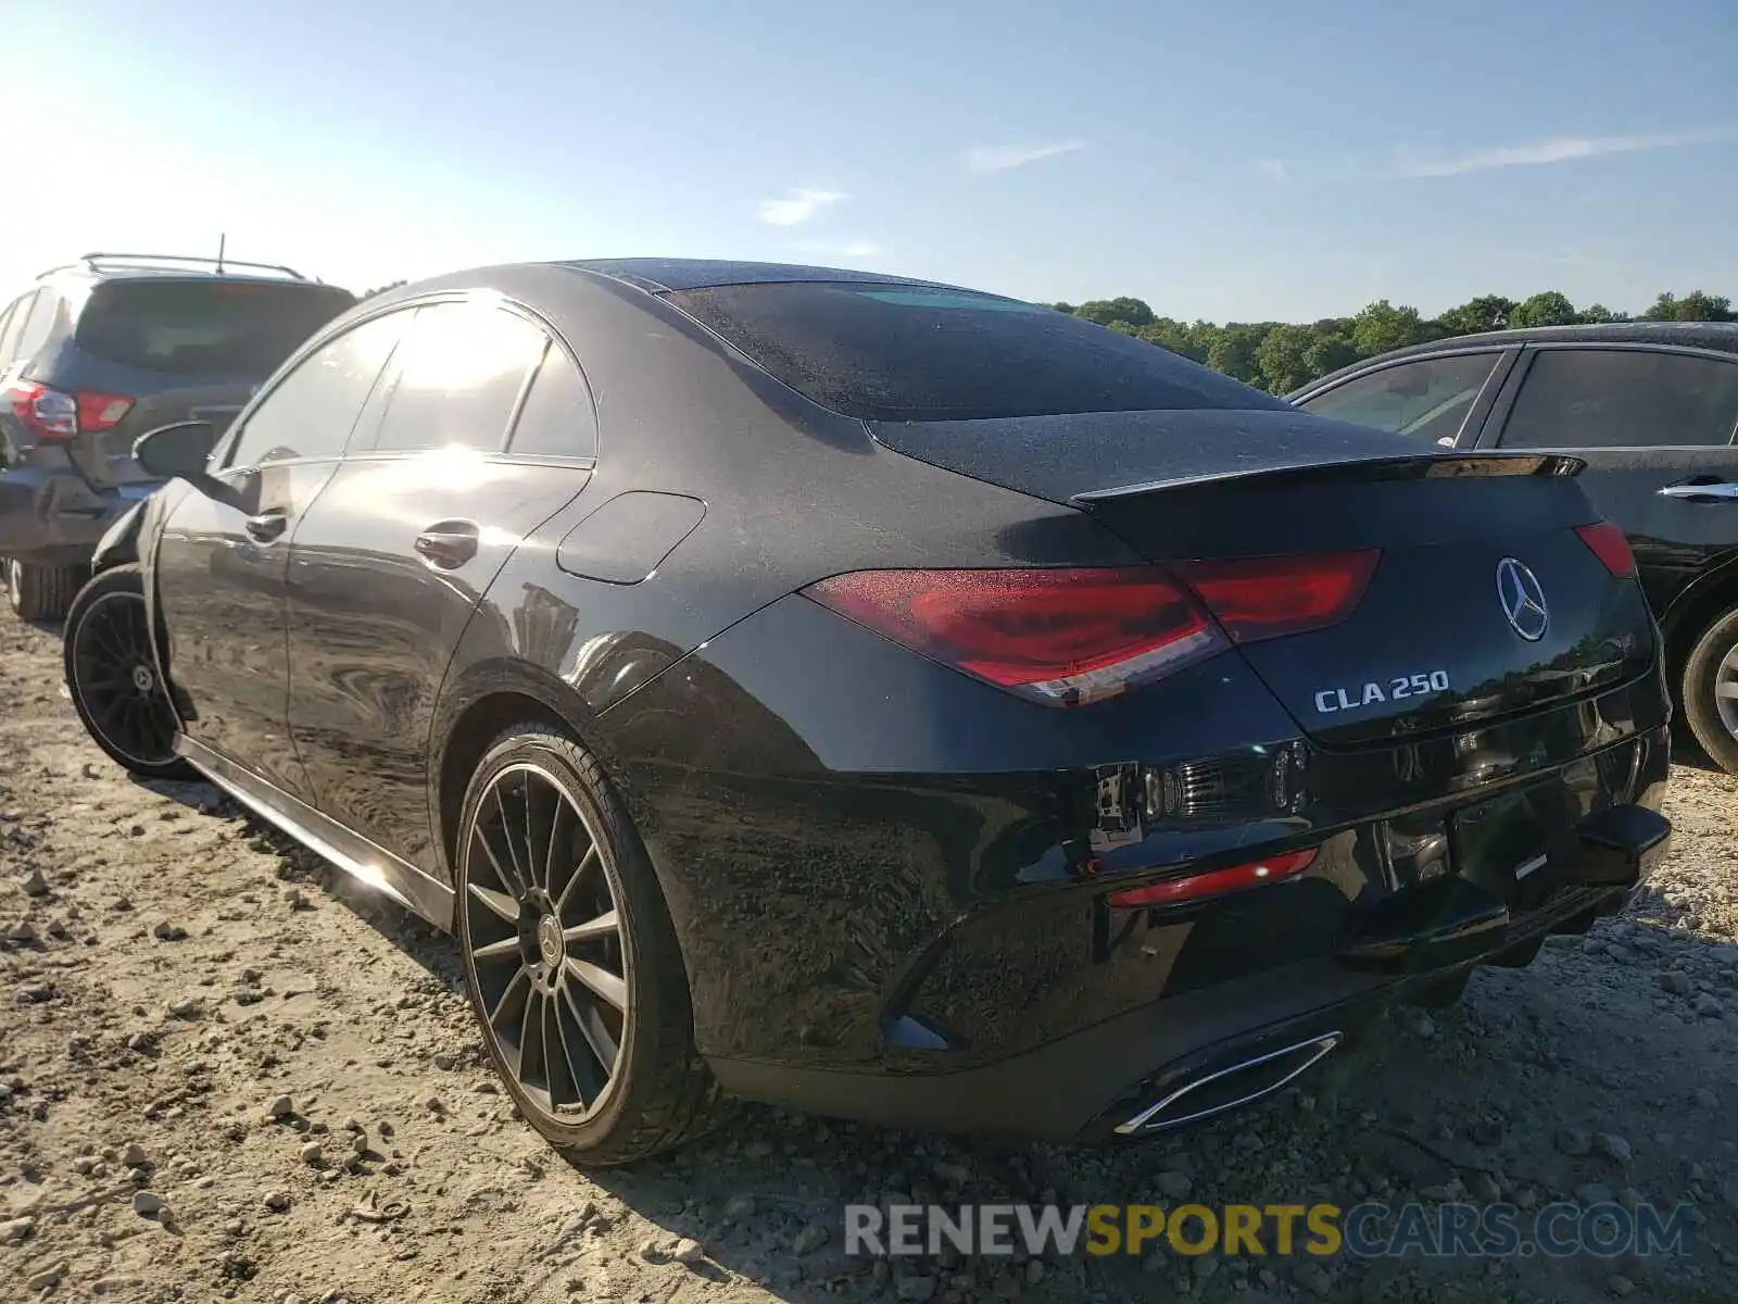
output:
M0 556L24 619L57 619L90 549L156 489L132 442L228 422L297 344L355 303L290 268L85 254L0 309Z

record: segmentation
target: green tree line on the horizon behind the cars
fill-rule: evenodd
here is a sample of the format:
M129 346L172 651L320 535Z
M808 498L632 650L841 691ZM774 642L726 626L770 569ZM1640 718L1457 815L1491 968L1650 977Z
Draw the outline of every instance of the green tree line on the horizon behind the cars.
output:
M1178 322L1159 316L1142 299L1093 299L1083 304L1051 304L1058 311L1145 339L1171 353L1203 362L1269 393L1291 393L1331 370L1406 344L1425 344L1451 336L1514 327L1575 325L1582 322L1733 322L1731 299L1691 290L1679 297L1665 292L1632 318L1604 304L1576 308L1559 290L1531 299L1481 294L1441 316L1423 316L1416 308L1378 299L1356 316L1324 316L1307 325L1295 322Z

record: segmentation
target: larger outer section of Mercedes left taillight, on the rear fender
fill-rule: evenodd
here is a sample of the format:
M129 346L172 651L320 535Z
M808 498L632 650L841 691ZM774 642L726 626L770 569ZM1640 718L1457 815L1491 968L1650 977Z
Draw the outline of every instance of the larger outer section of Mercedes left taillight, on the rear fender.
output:
M1085 706L1227 647L1154 567L855 570L805 593L859 624L1048 706Z

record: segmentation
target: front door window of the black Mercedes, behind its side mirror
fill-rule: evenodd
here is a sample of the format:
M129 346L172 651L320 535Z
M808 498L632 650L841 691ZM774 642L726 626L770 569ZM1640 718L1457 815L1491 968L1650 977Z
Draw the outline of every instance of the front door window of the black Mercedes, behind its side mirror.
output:
M388 313L309 353L247 419L228 466L337 457L393 355L408 313Z

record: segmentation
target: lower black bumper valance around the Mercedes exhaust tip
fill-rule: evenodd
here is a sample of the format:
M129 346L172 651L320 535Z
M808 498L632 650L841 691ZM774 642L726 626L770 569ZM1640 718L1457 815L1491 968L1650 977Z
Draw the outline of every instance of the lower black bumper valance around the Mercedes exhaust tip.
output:
M1667 826L1646 807L1623 807L1642 840L1611 847L1609 821L1597 829L1585 876L1528 916L1483 934L1483 946L1449 956L1422 944L1406 972L1349 965L1338 956L1288 965L1159 1000L1036 1050L954 1073L846 1073L751 1061L711 1061L720 1085L746 1099L890 1127L999 1132L1058 1142L1138 1139L1218 1113L1192 1087L1218 1087L1241 1066L1274 1068L1218 1101L1248 1104L1356 1040L1387 1008L1422 986L1463 974L1481 960L1526 951L1549 934L1585 932L1622 909L1634 887L1665 855ZM1623 880L1623 882L1618 882ZM1317 1054L1319 1052L1319 1054ZM1291 1055L1291 1061L1284 1057ZM1175 1106L1154 1114L1154 1106Z

